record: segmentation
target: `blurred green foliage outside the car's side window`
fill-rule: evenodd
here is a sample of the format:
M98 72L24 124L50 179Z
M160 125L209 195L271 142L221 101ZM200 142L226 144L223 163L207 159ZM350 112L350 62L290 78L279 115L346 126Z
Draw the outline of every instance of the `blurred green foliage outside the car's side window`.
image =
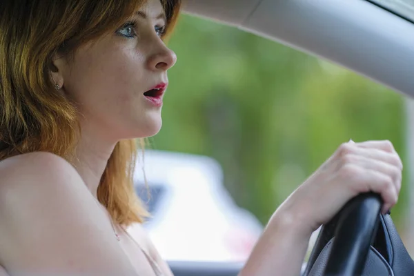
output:
M390 139L404 158L404 101L373 81L188 16L170 47L178 62L152 147L217 159L237 203L263 223L349 139ZM403 185L397 222L407 202Z

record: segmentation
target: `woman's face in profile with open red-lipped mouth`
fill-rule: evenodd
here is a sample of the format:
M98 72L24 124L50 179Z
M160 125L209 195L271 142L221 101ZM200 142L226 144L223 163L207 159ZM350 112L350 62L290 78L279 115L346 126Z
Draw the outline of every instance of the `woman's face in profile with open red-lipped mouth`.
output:
M166 20L159 0L148 0L131 21L135 23L81 47L69 65L55 61L62 92L83 115L81 128L109 139L150 137L159 131L162 88L177 59L160 38ZM146 93L152 88L161 90Z

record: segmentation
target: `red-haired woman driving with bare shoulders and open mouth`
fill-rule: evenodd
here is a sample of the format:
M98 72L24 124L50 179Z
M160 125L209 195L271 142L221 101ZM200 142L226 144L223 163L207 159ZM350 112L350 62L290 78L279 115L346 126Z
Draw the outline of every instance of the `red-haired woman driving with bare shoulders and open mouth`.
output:
M0 4L0 264L4 275L172 275L132 188L135 140L161 127L164 39L179 0ZM142 143L141 143L142 144ZM246 275L299 275L308 239L346 201L400 193L389 141L345 143L279 206Z

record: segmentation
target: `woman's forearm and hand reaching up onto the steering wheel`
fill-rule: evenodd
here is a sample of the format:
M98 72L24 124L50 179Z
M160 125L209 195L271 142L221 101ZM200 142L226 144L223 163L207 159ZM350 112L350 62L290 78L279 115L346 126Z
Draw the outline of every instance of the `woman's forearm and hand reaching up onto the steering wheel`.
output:
M312 232L360 193L379 193L388 211L397 203L401 172L390 141L342 144L277 208L240 276L299 275Z

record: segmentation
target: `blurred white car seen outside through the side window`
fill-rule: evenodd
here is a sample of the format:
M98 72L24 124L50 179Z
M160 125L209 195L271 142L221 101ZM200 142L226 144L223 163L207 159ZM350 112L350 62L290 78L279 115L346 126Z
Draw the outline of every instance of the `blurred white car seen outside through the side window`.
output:
M175 262L244 262L248 258L263 226L230 197L217 161L146 150L144 170L148 188L138 160L135 190L152 213L144 227L161 257Z

